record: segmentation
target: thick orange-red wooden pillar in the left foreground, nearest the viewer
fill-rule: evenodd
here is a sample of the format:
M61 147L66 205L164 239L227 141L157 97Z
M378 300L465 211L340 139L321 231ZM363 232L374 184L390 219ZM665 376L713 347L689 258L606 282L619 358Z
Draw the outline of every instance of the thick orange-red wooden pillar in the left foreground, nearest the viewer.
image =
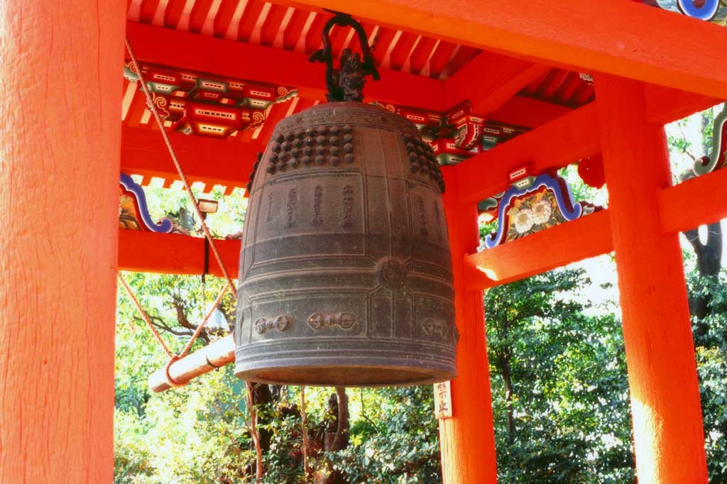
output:
M111 483L126 1L0 9L0 483Z

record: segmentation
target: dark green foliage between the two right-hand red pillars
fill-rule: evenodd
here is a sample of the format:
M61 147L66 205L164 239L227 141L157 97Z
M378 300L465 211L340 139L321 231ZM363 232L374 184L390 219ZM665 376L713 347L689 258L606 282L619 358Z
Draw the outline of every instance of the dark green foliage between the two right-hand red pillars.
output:
M633 480L619 321L569 297L589 284L556 270L486 294L502 482Z

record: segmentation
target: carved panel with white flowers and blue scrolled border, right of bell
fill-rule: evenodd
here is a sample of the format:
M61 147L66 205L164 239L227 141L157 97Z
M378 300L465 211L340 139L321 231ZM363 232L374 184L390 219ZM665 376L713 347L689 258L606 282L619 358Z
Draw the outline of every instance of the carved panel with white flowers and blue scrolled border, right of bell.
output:
M574 202L568 183L561 177L533 177L529 167L516 172L511 177L516 179L513 187L480 204L481 210L497 213L497 232L485 238L487 249L601 209L590 203Z

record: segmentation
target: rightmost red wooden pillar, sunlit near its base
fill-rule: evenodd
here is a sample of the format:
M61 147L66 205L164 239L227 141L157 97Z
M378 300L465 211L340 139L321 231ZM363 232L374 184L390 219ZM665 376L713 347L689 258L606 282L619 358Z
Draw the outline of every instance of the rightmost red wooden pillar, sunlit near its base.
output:
M672 184L664 128L646 121L643 84L595 81L639 482L706 483L682 253L656 203Z

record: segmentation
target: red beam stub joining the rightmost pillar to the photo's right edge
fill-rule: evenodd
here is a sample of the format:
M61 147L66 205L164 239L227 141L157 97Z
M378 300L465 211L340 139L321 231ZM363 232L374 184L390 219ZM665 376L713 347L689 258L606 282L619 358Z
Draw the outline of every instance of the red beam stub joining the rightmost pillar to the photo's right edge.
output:
M683 232L724 218L727 218L727 169L659 192L659 219L664 232Z

